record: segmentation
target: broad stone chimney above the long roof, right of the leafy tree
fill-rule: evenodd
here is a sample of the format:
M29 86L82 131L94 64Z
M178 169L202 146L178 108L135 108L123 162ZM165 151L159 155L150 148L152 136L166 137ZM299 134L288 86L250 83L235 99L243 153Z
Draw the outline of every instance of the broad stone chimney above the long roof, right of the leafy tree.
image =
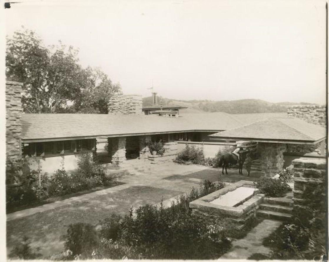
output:
M142 97L140 95L114 95L109 103L109 114L142 114Z

